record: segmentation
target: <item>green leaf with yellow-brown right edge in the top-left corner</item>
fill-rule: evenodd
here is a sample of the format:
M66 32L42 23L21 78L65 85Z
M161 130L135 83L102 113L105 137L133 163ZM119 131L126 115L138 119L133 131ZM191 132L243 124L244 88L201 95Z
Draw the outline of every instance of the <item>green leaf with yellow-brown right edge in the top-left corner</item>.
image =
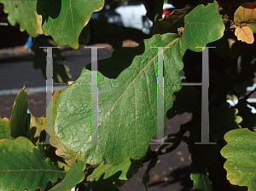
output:
M33 38L37 37L37 33L43 33L42 18L37 13L38 1L2 0L0 2L4 4L4 13L8 14L8 21L12 26L19 23L20 31L26 30Z

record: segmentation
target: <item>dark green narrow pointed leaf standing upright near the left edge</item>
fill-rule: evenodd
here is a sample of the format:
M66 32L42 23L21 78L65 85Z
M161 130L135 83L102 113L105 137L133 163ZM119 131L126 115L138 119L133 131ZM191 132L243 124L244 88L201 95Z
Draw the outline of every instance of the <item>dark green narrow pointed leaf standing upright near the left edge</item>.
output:
M14 138L18 136L25 136L30 139L30 118L31 115L27 113L26 100L26 85L20 90L20 93L15 98L12 115L10 118L10 135Z

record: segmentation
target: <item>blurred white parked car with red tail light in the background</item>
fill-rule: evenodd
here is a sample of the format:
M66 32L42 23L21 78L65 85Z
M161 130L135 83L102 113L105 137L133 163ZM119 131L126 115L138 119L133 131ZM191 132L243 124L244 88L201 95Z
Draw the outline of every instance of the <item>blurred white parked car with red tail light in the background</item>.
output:
M164 18L166 14L171 14L174 9L175 7L172 4L165 3L162 17ZM142 2L130 0L123 3L114 11L121 15L125 27L136 28L142 30L145 34L149 34L153 22L146 17L147 10Z

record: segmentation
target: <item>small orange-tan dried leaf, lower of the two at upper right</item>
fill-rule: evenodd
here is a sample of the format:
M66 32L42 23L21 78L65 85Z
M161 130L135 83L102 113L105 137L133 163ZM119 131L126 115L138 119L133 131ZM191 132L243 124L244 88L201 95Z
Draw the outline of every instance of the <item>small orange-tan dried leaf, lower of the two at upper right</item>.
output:
M246 43L254 42L253 32L248 26L237 27L235 31L235 35L238 40L241 40L241 42L246 42Z

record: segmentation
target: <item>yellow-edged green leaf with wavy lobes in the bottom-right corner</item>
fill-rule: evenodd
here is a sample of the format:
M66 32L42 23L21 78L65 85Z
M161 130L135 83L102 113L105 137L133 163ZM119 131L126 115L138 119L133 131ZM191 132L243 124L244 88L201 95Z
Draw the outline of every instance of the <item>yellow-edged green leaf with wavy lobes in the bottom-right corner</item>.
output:
M248 129L228 131L224 140L228 142L221 149L227 159L224 169L231 184L247 186L248 191L256 190L256 134Z

